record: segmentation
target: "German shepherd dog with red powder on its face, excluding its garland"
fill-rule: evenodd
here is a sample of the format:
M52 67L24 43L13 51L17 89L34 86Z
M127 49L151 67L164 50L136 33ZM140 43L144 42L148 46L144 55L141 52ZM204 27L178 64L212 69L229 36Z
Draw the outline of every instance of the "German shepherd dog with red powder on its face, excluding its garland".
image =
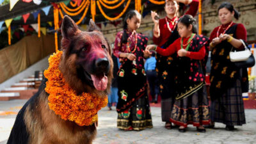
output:
M106 97L113 78L113 61L106 38L90 20L88 31L78 29L65 16L61 26L60 71L77 95L83 92ZM107 82L106 82L107 80ZM38 92L20 109L8 144L84 144L92 143L96 124L79 126L63 120L49 109L44 79Z

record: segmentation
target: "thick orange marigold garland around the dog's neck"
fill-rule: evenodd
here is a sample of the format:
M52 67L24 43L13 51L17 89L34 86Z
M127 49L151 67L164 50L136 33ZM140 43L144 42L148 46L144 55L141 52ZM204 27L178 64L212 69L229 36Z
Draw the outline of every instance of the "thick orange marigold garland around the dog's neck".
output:
M45 92L49 93L49 108L63 120L74 121L80 126L92 125L98 120L97 112L108 104L108 97L100 98L94 93L76 95L60 72L61 55L62 51L58 51L50 56L49 68L44 72L48 79Z

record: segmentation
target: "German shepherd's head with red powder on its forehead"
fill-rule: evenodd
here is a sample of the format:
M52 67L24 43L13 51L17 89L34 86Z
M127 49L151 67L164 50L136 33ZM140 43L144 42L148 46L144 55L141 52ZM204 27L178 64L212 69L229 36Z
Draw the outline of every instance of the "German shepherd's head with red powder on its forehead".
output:
M65 16L61 26L60 70L67 83L77 91L109 92L113 61L109 44L96 24L90 20L88 31L78 29L74 20Z

